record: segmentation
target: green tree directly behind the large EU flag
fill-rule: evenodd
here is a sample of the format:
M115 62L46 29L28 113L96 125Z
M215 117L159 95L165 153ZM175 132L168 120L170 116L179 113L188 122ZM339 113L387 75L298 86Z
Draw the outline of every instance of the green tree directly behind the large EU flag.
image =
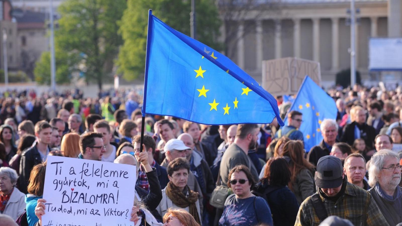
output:
M119 22L124 40L117 64L127 80L144 74L148 9L173 29L190 35L190 0L127 0L127 9ZM215 0L196 0L197 40L216 50L221 21Z

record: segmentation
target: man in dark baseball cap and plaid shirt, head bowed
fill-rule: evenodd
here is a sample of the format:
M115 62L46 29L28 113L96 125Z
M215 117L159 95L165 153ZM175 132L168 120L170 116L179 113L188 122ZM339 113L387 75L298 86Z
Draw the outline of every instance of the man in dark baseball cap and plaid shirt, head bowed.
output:
M317 192L301 203L295 226L318 225L328 216L350 220L353 225L388 226L371 195L345 179L339 158L320 158L315 181Z

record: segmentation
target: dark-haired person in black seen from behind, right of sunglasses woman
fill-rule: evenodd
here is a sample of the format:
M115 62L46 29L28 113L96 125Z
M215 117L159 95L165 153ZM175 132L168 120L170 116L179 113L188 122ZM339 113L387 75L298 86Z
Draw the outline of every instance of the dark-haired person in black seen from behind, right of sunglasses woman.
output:
M299 204L296 196L286 186L291 173L284 158L271 158L265 166L264 176L252 191L263 197L271 208L274 225L292 226L295 224Z

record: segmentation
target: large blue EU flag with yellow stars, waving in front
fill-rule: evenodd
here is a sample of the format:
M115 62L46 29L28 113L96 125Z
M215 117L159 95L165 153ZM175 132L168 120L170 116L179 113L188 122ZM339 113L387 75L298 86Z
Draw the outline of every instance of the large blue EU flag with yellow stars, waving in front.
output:
M229 58L150 13L143 114L201 124L271 123L277 101ZM147 74L148 70L148 74Z

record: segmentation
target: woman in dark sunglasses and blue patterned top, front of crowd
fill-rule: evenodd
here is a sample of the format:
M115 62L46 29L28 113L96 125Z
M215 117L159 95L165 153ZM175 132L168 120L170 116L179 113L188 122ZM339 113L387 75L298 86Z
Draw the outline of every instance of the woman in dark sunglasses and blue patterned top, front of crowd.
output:
M251 193L255 182L250 169L237 165L229 173L228 186L234 194L225 201L224 212L219 220L219 226L248 226L257 224L272 224L269 205L262 197Z

